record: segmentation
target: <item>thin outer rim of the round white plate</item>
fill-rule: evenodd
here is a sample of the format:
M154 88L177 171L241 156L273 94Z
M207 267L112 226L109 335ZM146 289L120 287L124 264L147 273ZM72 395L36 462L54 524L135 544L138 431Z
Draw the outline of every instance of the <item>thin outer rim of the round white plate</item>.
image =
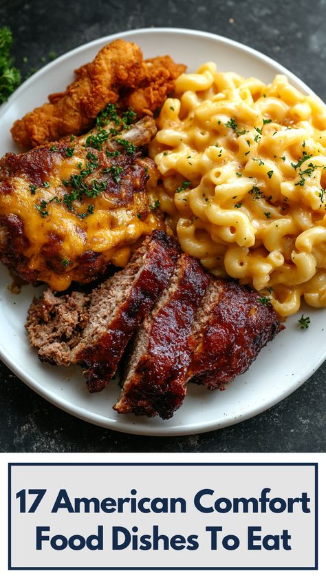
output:
M54 61L47 63L47 65L45 65L38 72L33 74L29 79L24 81L19 86L19 88L12 95L10 95L8 101L0 107L0 116L6 114L6 110L9 107L11 107L14 101L19 99L21 93L23 93L23 91L26 88L28 88L30 84L38 80L39 77L43 76L45 72L51 70L52 68L56 68L58 65L60 66L61 62L65 61L66 59L69 59L69 57L75 56L79 52L83 52L84 50L87 50L89 48L93 47L96 48L100 44L111 42L117 38L126 39L135 34L146 35L153 33L159 34L172 33L176 34L177 36L184 35L192 37L194 36L202 37L204 39L212 39L213 41L217 41L225 45L230 45L231 47L236 48L241 52L245 52L247 54L250 54L251 56L254 56L254 58L261 61L261 63L268 63L268 65L271 65L273 68L276 68L278 74L287 75L288 78L292 81L292 83L300 87L301 90L307 92L307 94L316 94L294 73L285 68L283 65L274 61L274 59L270 58L270 56L267 56L263 54L263 52L251 48L250 46L243 45L238 41L229 39L227 37L223 37L219 34L214 34L213 32L205 32L203 30L195 30L191 28L177 28L177 27L137 28L133 30L125 30L122 32L116 32L114 34L109 34L105 37L100 37L98 39L94 39L93 41L89 41L82 45L78 45L76 48L72 48L72 50L69 50L68 52L62 54L61 56L58 56L58 58L54 59ZM294 381L292 386L290 386L290 388L286 389L286 391L282 391L281 393L279 393L279 395L274 397L272 402L271 400L268 401L263 400L261 401L261 404L257 405L254 408L254 410L252 409L249 409L248 411L243 410L241 412L241 415L237 417L232 416L230 418L226 417L223 420L223 422L216 422L216 420L210 420L206 422L201 421L197 424L192 423L191 425L186 426L184 424L174 426L168 425L164 426L164 423L162 423L162 426L155 425L155 431L151 431L153 427L151 427L150 424L149 425L142 424L137 426L136 422L130 424L120 423L118 420L119 417L117 417L116 420L113 420L109 417L102 417L101 415L98 415L93 411L89 411L86 410L85 408L78 406L76 403L72 403L68 400L63 399L63 397L61 397L57 393L47 391L46 386L43 386L43 384L41 384L39 380L36 380L34 377L30 375L30 373L25 371L25 369L23 369L21 366L17 366L17 363L12 362L12 360L10 360L9 355L5 351L3 351L1 344L0 344L0 359L4 362L4 364L6 364L6 366L8 366L8 368L14 373L14 375L19 377L19 379L23 381L27 386L29 386L34 392L41 395L45 400L47 400L51 404L54 404L56 407L65 411L66 413L69 413L70 415L77 417L80 420L89 422L91 424L95 424L97 426L101 426L102 428L109 428L112 431L128 433L131 435L171 437L171 436L195 435L197 433L207 433L209 431L215 431L220 428L232 426L239 422L246 421L251 417L255 417L256 415L259 415L260 413L267 411L269 408L272 408L272 406L278 404L279 402L284 400L287 396L291 395L294 391L296 391L296 389L299 388L299 386L301 386L307 379L309 379L309 377L311 377L316 372L319 366L323 364L323 362L326 360L326 351L323 355L320 355L320 358L318 358L317 363L315 364L315 366L312 367L312 369L309 369L308 372L303 373L303 375L299 378L299 380ZM135 417L135 421L136 420L137 417Z

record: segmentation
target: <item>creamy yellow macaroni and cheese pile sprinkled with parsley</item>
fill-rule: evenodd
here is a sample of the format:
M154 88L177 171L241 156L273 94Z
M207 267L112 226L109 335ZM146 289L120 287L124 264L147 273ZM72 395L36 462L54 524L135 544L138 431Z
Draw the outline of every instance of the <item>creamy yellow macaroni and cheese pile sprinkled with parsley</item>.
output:
M268 296L281 316L302 296L326 307L325 105L281 74L265 85L214 63L182 74L175 94L150 155L182 249Z

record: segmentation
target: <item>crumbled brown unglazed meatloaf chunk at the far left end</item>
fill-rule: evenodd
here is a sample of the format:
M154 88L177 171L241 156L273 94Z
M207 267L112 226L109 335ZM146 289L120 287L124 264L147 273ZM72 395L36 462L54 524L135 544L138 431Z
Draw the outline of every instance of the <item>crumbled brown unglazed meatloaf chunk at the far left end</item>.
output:
M89 297L82 292L59 297L47 289L42 298L34 298L25 327L42 362L70 364L72 349L88 322L88 305Z

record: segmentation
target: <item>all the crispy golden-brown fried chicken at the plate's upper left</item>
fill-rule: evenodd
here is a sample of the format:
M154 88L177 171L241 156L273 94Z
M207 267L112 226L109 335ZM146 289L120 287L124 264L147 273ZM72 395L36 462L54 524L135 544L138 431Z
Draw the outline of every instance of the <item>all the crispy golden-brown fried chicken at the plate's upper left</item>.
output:
M75 71L76 79L65 92L51 94L50 103L16 121L12 137L30 149L71 134L81 135L94 125L107 103L118 100L122 108L133 108L139 117L153 115L185 69L170 56L143 61L138 45L117 39L102 48L94 61Z

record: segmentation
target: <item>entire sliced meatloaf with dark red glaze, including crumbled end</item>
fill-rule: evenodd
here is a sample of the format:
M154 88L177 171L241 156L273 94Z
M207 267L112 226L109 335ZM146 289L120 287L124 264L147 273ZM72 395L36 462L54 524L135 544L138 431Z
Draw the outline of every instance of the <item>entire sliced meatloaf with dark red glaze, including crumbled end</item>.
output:
M45 291L30 307L26 327L39 358L80 364L91 392L109 382L129 343L114 408L167 419L182 404L189 380L224 389L274 338L280 323L265 302L209 275L157 230L127 267L89 295Z

